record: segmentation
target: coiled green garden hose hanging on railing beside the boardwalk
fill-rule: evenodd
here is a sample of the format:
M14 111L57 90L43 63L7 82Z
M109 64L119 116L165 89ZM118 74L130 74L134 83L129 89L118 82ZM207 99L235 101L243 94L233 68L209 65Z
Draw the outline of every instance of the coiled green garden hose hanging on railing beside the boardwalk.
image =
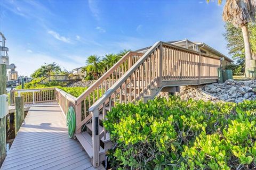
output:
M70 106L67 113L67 126L68 126L68 137L73 138L76 130L76 114L74 107Z

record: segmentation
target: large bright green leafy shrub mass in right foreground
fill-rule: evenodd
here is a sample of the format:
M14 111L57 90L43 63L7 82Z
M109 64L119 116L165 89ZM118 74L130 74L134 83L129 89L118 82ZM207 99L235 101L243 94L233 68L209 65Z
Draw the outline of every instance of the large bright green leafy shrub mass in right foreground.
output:
M115 169L250 169L256 166L256 102L157 98L117 105L103 122Z

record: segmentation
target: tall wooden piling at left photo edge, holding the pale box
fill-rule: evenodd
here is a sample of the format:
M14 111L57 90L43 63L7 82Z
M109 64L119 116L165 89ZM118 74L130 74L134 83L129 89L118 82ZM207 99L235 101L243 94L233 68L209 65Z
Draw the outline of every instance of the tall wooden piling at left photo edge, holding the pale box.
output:
M6 65L0 64L0 95L6 94ZM0 119L0 166L6 156L6 116Z

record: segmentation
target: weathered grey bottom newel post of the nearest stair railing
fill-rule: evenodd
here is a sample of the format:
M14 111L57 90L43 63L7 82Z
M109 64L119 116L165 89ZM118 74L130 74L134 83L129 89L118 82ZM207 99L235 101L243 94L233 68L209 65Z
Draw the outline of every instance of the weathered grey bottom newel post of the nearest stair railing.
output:
M92 112L92 165L98 167L100 163L100 132L99 132L99 109Z

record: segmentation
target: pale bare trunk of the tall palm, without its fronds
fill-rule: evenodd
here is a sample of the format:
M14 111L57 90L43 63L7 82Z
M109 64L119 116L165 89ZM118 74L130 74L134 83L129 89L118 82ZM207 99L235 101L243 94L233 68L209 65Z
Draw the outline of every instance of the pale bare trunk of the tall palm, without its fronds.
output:
M249 70L251 69L251 60L252 60L252 50L251 44L249 41L249 31L247 25L242 27L243 38L244 38L244 48L245 48L245 77L249 77Z

